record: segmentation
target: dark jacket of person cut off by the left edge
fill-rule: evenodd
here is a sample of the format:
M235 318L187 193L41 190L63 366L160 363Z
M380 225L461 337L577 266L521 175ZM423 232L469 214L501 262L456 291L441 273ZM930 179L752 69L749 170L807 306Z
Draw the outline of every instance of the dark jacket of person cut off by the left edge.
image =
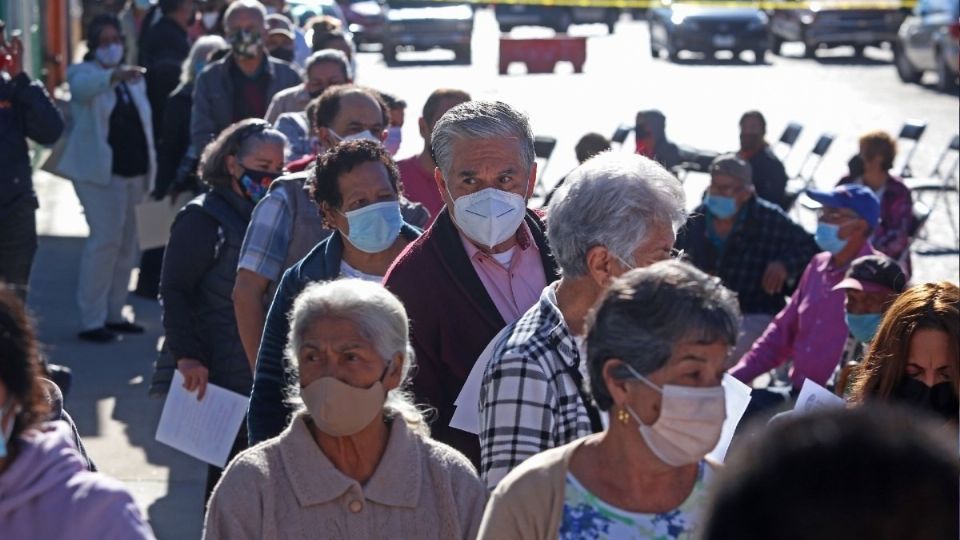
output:
M0 72L0 214L33 196L27 139L49 145L62 133L63 115L39 81Z

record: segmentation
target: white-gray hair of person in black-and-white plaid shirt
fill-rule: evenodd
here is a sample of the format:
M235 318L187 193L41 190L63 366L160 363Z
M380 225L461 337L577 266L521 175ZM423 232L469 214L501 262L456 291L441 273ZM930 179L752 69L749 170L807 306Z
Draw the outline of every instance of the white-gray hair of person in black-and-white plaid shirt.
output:
M550 203L550 248L565 277L587 273L587 252L603 246L625 261L650 229L686 220L683 188L657 162L603 152L567 176Z

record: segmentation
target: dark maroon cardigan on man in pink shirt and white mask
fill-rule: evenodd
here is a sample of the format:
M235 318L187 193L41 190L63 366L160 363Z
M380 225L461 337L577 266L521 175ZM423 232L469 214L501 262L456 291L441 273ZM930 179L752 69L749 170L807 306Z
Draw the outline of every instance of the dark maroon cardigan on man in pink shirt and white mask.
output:
M559 278L545 226L532 211L525 223L540 251L547 283ZM436 408L433 438L463 452L479 468L476 435L450 427L454 401L474 362L507 322L487 293L463 248L446 209L433 225L394 261L383 278L410 318L417 371L413 393L418 404Z

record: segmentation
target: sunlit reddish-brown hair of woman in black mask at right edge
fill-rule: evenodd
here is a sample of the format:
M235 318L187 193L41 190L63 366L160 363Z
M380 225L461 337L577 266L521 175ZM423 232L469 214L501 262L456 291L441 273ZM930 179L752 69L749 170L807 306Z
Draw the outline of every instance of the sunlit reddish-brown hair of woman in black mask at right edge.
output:
M940 330L953 358L953 389L960 393L960 289L949 281L907 289L890 305L856 372L851 401L885 400L905 377L910 341L917 330Z

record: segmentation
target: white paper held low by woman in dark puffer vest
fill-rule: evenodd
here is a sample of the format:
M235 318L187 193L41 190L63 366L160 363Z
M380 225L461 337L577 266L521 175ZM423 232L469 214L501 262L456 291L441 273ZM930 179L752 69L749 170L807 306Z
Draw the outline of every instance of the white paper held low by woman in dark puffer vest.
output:
M217 467L227 464L230 448L247 412L247 396L207 384L202 401L183 388L183 375L173 374L163 404L157 441Z

